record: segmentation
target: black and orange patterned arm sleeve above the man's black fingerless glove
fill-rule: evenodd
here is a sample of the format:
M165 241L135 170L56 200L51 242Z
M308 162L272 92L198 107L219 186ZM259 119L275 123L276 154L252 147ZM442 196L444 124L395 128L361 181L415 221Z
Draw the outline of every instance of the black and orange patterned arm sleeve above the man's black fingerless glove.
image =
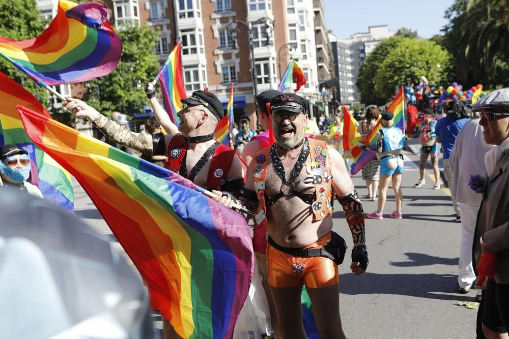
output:
M352 192L349 194L343 197L338 197L336 195L336 198L341 206L343 206L343 211L345 211L345 218L350 227L350 232L352 233L353 243L355 245L364 244L366 242L364 233L364 210L362 209L362 202L360 202L357 190L353 188Z

